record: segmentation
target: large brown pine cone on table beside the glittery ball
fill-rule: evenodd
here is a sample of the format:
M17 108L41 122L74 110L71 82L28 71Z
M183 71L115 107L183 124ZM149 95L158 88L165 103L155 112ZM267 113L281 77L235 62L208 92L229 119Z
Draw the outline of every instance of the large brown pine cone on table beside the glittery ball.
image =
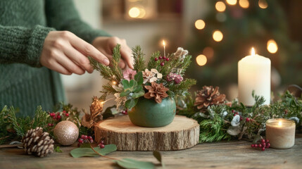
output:
M54 152L54 140L42 127L28 130L21 142L27 154L43 157Z

